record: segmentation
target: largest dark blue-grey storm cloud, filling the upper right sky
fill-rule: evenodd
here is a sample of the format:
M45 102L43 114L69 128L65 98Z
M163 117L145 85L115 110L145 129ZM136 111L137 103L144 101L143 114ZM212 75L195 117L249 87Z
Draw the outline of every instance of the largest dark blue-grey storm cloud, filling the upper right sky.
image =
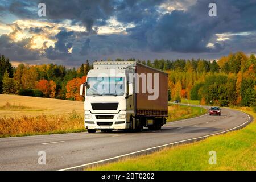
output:
M177 52L219 52L224 49L220 42L207 47L215 34L223 32L251 31L256 28L256 1L241 3L216 1L217 17L208 15L208 5L212 0L199 0L188 10L174 10L149 23L147 20L131 28L131 36L146 41L152 51ZM154 20L155 19L155 20Z

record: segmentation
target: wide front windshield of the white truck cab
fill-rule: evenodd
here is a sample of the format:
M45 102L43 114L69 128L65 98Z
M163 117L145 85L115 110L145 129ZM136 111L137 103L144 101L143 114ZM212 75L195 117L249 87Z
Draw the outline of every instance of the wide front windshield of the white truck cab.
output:
M123 96L123 77L88 77L86 96Z

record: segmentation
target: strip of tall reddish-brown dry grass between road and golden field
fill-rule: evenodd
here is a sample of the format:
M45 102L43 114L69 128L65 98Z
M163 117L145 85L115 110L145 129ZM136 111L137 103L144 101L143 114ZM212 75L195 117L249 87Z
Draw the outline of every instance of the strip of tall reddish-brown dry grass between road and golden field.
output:
M28 135L75 133L85 131L83 115L75 111L68 116L38 115L36 117L0 118L0 137L19 137Z

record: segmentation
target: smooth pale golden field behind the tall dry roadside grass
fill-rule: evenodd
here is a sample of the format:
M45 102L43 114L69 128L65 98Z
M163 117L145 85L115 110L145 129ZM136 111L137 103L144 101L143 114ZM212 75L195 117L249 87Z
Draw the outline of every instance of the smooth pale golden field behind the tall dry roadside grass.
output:
M5 107L7 102L21 108ZM74 112L82 114L84 102L0 94L0 117L68 115Z

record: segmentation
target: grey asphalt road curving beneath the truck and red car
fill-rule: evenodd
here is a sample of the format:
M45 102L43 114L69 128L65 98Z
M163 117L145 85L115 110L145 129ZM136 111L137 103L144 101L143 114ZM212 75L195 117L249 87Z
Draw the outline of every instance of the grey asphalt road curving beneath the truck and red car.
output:
M71 133L0 138L0 170L59 170L92 163L172 142L217 134L249 121L247 114L222 109L222 115L167 123L162 130L141 133ZM247 124L247 123L246 123ZM46 164L38 164L39 151Z

